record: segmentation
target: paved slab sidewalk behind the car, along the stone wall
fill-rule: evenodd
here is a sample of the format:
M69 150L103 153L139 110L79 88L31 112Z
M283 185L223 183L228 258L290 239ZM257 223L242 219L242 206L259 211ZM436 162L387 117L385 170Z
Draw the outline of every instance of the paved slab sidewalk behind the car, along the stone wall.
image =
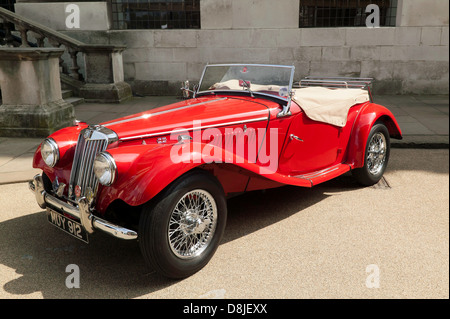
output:
M98 124L125 115L178 101L175 97L134 98L123 104L85 103L75 107L77 119ZM396 116L404 140L395 147L448 148L449 96L448 95L381 95L375 102L388 107ZM0 185L27 181L39 171L31 168L31 159L41 138L0 137Z

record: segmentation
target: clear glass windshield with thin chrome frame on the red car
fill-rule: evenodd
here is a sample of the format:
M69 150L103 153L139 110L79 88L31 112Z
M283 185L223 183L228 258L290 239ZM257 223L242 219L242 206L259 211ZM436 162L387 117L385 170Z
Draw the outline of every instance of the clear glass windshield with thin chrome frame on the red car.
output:
M207 65L200 79L197 94L218 91L246 91L249 94L271 95L287 100L292 89L293 77L293 66L260 64Z

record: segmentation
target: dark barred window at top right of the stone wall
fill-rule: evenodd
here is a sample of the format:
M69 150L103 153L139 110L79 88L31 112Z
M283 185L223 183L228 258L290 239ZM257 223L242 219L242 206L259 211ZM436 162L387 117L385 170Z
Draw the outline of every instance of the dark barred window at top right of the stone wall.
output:
M395 26L398 0L300 0L300 28L365 27L366 8L380 8L380 26Z

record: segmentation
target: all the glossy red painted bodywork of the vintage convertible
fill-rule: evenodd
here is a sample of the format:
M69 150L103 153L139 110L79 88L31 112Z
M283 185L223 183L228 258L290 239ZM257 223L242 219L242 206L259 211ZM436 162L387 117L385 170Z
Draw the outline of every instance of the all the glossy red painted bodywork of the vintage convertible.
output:
M200 104L204 102L208 103ZM194 106L187 107L191 105ZM118 172L113 185L100 186L97 211L104 213L118 199L132 206L144 204L194 168L214 174L226 194L285 184L312 187L362 166L367 136L376 121L384 121L391 136L401 138L392 113L369 102L351 108L344 128L308 119L294 102L292 115L277 118L281 109L277 103L263 98L214 95L102 123L119 136L119 143L107 150L115 159ZM193 121L201 121L201 128L200 122ZM231 124L224 125L226 123ZM246 136L242 131L244 125L247 127ZM55 168L47 167L39 147L33 167L43 169L50 180L57 176L60 182L68 183L78 134L86 126L80 123L52 134L60 148L59 163ZM174 129L177 133L171 136ZM192 136L193 141L184 144L184 150L189 149L189 152L179 158L181 162L173 163L171 152L175 149L182 151L182 146L176 144L180 129ZM229 134L231 129L233 134ZM304 142L289 139L290 134ZM196 140L202 135L207 139ZM230 140L224 136L233 136L234 139L243 136L246 144L255 148L258 157L252 156L247 149L240 154L236 147L227 148ZM166 137L165 144L157 143L157 138L161 137ZM218 144L213 146L212 141ZM271 141L277 142L275 150L270 149ZM205 148L210 154L207 158L202 157ZM276 153L277 165L273 171L266 165L265 151Z

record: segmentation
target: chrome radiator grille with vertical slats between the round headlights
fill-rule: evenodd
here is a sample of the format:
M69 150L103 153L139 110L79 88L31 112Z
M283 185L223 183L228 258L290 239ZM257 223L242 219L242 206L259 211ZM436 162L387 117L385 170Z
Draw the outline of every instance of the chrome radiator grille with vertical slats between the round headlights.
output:
M94 159L98 153L106 150L108 145L116 140L115 137L114 132L102 126L90 126L81 131L70 173L70 199L95 197L98 179L94 175Z

